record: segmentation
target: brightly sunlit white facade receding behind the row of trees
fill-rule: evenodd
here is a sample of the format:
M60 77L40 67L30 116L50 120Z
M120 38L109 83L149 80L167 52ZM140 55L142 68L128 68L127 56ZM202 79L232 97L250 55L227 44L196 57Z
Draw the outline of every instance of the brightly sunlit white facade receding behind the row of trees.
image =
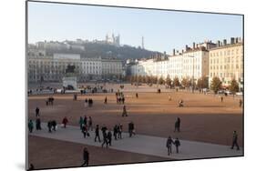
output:
M153 75L171 79L178 77L193 78L209 76L209 51L205 47L187 48L182 53L174 50L171 56L161 56L158 59L140 60L130 66L131 75Z

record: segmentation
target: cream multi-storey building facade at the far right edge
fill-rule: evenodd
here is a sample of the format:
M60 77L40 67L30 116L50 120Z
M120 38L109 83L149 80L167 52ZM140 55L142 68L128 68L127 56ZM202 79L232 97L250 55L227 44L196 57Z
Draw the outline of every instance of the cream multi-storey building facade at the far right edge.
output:
M223 86L230 85L234 78L243 89L243 42L241 38L230 38L210 49L210 80L218 76Z

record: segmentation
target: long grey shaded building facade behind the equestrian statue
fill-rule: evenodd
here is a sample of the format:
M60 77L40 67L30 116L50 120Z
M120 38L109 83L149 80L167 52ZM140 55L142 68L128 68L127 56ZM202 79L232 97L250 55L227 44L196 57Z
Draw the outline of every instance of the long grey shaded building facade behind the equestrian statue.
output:
M46 55L41 52L28 52L28 82L61 82L67 65L75 65L78 82L91 79L119 78L122 76L122 62L118 59L81 58L79 54Z

